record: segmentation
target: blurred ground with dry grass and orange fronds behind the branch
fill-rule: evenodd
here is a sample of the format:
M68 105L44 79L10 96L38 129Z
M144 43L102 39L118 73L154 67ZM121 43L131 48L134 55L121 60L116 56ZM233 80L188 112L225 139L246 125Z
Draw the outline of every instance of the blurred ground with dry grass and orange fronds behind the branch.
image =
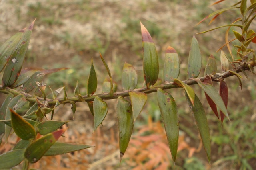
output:
M180 80L187 79L187 61L193 35L200 44L203 68L210 54L214 55L218 72L220 52L224 45L226 28L205 34L201 31L230 24L240 17L240 10L230 10L220 15L211 25L206 20L195 26L213 11L230 6L224 1L210 6L215 0L2 0L0 1L0 44L36 18L25 67L45 69L67 67L47 76L44 82L52 89L65 84L68 96L72 96L78 81L80 91L86 94L90 60L93 58L98 77L97 93L102 92L102 82L108 76L99 57L104 56L118 91L122 91L121 76L125 62L132 64L138 73L137 88L142 87L142 39L140 21L151 34L158 51L162 78L163 60L170 45L180 56ZM235 2L234 2L235 3ZM252 25L255 25L253 23ZM254 27L255 28L255 27ZM253 28L252 28L253 29ZM239 31L239 30L236 30ZM233 39L230 29L230 39ZM232 45L238 45L238 41ZM236 54L232 48L233 55ZM223 48L226 55L230 55ZM234 55L236 56L236 55ZM231 66L230 66L231 69ZM180 120L180 138L176 165L172 161L163 129L155 94L148 101L135 122L132 138L119 165L118 126L116 100L106 101L109 107L103 126L93 131L93 117L86 103L79 103L74 120L68 123L68 131L62 141L92 145L95 147L65 154L44 157L33 165L42 170L205 170L256 169L256 88L255 76L247 72L250 80L242 79L242 89L235 76L225 79L229 88L228 113L231 121L223 125L208 106L204 92L194 85L207 114L211 135L211 166L200 141L200 135L182 89L168 90L176 100ZM200 76L204 76L204 69ZM218 83L214 83L218 89ZM46 92L50 92L46 88ZM4 100L4 95L1 100ZM61 97L61 96L60 96ZM70 106L59 107L55 119L72 120ZM9 147L1 146L2 151Z

